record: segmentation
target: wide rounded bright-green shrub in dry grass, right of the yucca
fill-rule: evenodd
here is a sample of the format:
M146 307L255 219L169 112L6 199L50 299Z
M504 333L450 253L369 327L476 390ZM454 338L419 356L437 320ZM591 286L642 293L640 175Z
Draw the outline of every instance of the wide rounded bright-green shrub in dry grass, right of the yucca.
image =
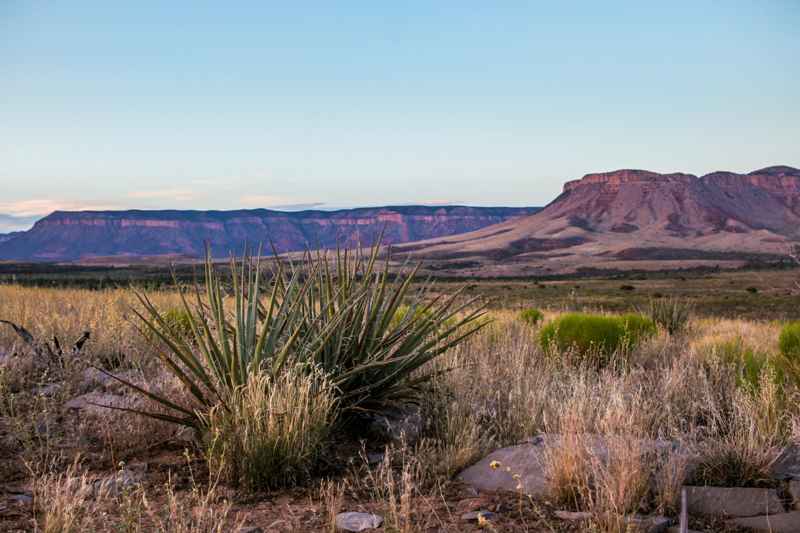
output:
M544 349L553 346L560 352L595 353L605 363L615 352L633 348L655 332L655 324L641 315L569 313L542 328L540 343Z

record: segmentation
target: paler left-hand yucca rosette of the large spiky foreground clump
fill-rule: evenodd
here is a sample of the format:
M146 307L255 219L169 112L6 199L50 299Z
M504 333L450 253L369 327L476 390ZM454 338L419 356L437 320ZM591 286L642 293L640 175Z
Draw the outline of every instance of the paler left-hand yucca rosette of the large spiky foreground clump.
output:
M299 271L287 274L279 261L274 264L265 305L262 300L267 287L259 259L244 257L241 266L231 259L229 298L207 254L205 287L194 287L194 305L189 304L190 291L180 290L189 335L176 329L168 314L161 313L145 292L135 291L141 309L133 309L133 313L140 319L143 333L163 343L155 354L183 384L193 405L180 405L112 375L164 408L164 412L134 412L202 429L205 413L218 406L230 410L233 395L247 384L252 372L278 375L293 362L294 354L310 352L313 348L308 344L312 341L319 346L321 337L314 340L301 335L306 326L301 315L303 295L311 288L313 278L303 281Z

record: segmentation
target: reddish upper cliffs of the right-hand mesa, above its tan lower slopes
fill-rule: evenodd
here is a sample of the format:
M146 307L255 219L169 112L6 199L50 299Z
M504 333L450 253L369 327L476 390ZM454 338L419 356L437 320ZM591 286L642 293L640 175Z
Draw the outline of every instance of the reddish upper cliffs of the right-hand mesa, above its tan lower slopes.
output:
M766 229L800 234L800 170L768 167L749 174L658 174L618 170L568 182L540 217L565 217L593 231L649 228L674 235Z

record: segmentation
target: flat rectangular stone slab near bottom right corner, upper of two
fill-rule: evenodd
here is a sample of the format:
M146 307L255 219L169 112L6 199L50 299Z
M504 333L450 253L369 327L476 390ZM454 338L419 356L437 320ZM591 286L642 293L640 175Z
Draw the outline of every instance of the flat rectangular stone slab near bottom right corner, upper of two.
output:
M744 517L784 512L773 489L686 487L686 501L692 515Z

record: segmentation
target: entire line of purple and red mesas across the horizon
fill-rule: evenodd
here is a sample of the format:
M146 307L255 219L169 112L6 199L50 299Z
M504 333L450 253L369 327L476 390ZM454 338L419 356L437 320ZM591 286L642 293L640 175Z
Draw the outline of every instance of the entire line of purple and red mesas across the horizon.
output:
M623 169L569 181L544 208L401 206L341 211L56 212L0 237L0 259L136 262L371 244L437 273L537 276L581 270L741 266L800 242L800 170L695 176Z

